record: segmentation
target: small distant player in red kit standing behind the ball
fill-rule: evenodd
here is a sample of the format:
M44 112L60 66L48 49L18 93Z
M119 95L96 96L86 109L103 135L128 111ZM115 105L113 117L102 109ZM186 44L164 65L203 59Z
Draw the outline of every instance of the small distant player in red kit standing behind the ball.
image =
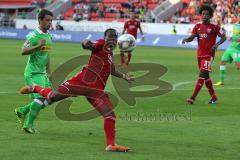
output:
M142 41L144 41L144 34L143 34L143 31L142 31L142 28L141 28L140 21L135 19L135 13L134 12L130 12L130 20L125 22L122 34L124 34L125 31L127 30L127 33L133 35L135 37L135 39L137 40L138 29L140 30L140 33L142 35ZM131 51L127 52L128 53L127 62L125 62L124 53L125 52L123 52L123 51L120 52L120 56L121 56L121 64L120 65L126 67L126 66L128 66L128 64L129 64L129 62L132 58L132 52Z

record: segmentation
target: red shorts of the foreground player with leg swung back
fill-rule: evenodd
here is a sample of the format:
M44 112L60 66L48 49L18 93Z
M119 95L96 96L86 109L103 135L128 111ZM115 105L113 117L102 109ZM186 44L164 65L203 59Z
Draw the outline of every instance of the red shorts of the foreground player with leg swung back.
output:
M85 96L89 103L102 113L104 108L112 108L108 94L103 90L102 83L86 84L82 81L67 80L63 82L57 91L66 96Z

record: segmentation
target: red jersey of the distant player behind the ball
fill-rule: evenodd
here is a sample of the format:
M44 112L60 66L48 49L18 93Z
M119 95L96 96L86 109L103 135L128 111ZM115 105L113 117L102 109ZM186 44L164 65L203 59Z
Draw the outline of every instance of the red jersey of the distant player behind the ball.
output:
M137 39L137 30L141 29L140 21L138 20L128 20L124 24L124 29L127 30L128 34L133 35Z

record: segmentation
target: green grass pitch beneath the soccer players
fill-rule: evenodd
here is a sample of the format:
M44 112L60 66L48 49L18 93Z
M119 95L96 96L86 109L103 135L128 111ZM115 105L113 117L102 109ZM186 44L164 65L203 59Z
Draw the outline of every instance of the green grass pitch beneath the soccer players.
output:
M161 79L175 86L175 90L158 97L138 98L134 107L120 100L116 108L117 143L129 146L131 151L107 153L101 117L62 121L55 115L55 105L41 111L35 123L40 134L21 131L13 110L30 102L27 96L18 94L24 85L27 61L27 57L20 55L22 43L0 40L1 160L239 160L240 77L233 65L227 66L226 85L215 87L220 104L207 104L210 97L204 87L196 104L189 106L185 100L191 95L198 76L196 50L137 47L132 63L166 66L168 72ZM51 53L52 70L72 57L87 54L80 44L55 43ZM222 52L217 53L213 64L214 82L218 80L221 55ZM111 79L107 90L117 96ZM71 107L74 113L89 109L91 106L84 98L76 98ZM137 114L145 119L136 118ZM162 117L151 118L153 114Z

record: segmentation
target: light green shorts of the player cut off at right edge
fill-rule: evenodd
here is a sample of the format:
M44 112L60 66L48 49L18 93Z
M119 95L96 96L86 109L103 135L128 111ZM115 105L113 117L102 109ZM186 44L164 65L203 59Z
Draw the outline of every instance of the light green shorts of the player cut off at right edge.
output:
M228 47L222 56L222 61L228 63L240 62L240 49Z

